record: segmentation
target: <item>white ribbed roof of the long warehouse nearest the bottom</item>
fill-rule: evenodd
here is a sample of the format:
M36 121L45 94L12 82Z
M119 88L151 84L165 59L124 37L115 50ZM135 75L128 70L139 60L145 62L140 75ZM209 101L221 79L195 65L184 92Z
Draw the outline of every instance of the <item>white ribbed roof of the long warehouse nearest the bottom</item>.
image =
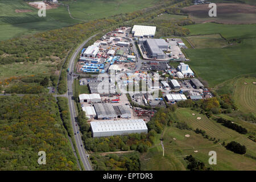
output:
M90 122L93 133L113 132L113 131L134 131L147 130L147 125L143 119L125 119L119 121L92 121Z

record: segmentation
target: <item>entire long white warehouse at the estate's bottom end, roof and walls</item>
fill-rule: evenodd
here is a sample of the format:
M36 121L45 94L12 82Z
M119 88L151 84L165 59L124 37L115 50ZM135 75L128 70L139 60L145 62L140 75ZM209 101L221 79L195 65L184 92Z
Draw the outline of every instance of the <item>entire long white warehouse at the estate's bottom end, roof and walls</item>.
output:
M131 133L147 133L147 125L143 119L127 119L119 121L90 122L93 137L110 137L129 135Z

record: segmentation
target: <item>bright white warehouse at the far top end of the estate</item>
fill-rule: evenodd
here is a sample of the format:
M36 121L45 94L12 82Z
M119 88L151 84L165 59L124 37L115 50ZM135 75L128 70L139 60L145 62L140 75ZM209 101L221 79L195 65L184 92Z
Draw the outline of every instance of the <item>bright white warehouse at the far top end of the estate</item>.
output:
M143 38L144 36L155 36L156 27L154 26L142 26L142 25L134 25L131 33L135 37Z

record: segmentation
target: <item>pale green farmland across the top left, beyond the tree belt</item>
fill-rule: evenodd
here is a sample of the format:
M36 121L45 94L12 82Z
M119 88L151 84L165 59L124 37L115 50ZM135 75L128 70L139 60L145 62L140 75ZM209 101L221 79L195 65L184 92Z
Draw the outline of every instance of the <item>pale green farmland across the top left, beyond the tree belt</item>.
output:
M107 18L111 15L131 13L153 6L163 0L111 0L111 1L59 1L70 5L72 19L66 7L46 11L46 17L38 16L38 9L29 6L23 0L0 0L0 41L14 37L34 34L62 27L72 26L88 20ZM28 13L16 13L15 10L31 10Z

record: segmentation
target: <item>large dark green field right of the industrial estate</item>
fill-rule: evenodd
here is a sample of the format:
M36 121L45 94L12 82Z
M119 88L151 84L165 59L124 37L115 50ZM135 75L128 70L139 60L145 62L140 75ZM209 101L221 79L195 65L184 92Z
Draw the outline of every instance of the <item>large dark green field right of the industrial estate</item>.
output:
M238 75L255 73L256 39L243 39L238 46L184 49L197 76L210 87Z

